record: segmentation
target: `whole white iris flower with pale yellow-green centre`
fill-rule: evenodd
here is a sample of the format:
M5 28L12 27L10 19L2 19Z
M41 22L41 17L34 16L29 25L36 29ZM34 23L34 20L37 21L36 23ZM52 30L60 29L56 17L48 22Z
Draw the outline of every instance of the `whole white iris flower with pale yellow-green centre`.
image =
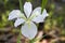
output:
M25 14L24 14L25 13ZM39 24L44 22L44 18L48 16L46 9L41 14L41 8L36 8L32 12L32 5L30 2L25 2L24 4L24 13L20 10L13 10L9 14L9 20L15 19L14 26L17 27L21 24L24 24L21 28L22 34L28 39L34 39L37 34L37 26L34 24Z

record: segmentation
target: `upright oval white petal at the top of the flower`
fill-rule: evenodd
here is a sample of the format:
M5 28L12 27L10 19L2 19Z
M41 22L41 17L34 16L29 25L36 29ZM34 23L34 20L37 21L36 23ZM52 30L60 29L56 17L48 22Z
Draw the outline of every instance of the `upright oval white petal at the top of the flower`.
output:
M30 16L31 11L32 11L31 3L30 2L25 2L25 4L24 4L24 12L25 12L27 17Z

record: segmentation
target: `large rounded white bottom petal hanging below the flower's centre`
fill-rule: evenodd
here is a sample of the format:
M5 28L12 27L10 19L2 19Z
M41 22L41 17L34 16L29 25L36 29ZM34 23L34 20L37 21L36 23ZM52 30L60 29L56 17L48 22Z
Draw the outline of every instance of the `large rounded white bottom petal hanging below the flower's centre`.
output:
M25 35L28 39L34 39L37 34L37 27L34 23L30 23L30 27L28 27L28 24L24 24L22 26L22 34Z

